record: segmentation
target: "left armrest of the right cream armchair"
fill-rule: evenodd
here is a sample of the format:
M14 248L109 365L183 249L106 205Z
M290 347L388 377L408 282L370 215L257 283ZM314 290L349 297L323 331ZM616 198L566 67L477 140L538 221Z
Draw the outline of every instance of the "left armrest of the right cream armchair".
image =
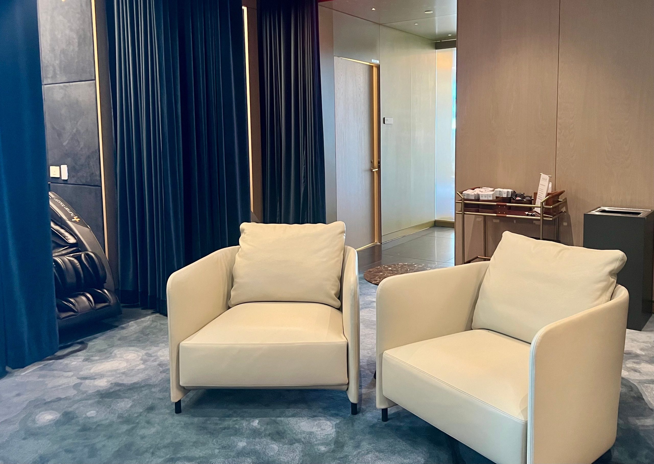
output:
M383 395L384 351L470 330L479 287L489 262L402 274L377 288L377 408L395 403Z

